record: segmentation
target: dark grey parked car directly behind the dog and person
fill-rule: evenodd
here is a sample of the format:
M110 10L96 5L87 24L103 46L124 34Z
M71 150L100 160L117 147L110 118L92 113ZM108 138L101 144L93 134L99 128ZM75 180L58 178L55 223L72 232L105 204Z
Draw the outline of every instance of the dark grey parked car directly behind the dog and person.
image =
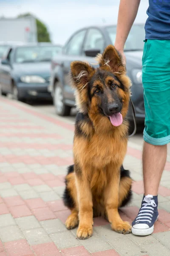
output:
M75 106L74 91L71 89L69 71L71 61L81 60L94 63L94 56L102 53L108 44L114 44L115 26L91 26L80 29L67 41L62 54L52 58L49 91L54 99L56 112L60 116L69 115ZM132 80L132 100L135 105L136 119L144 121L144 101L142 88L142 50L144 24L134 24L125 44L127 75ZM128 119L133 120L129 108Z

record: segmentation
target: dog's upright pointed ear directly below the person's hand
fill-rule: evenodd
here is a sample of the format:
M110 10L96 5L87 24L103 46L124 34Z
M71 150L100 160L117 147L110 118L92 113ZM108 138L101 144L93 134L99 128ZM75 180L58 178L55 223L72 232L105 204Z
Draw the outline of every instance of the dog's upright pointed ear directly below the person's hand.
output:
M122 62L122 55L116 50L113 45L108 45L103 54L98 57L99 66L104 67L106 70L110 67L111 72L126 73L126 67Z

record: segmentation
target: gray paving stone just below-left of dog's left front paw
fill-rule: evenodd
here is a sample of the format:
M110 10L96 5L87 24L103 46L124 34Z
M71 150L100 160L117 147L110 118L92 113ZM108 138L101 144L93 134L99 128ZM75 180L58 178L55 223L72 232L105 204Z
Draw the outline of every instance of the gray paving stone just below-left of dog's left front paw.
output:
M71 231L51 234L50 237L59 249L81 245Z

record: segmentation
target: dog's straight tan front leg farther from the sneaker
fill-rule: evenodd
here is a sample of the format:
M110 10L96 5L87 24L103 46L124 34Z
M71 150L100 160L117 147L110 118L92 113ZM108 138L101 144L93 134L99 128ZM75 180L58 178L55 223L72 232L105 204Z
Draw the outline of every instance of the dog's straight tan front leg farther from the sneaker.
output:
M87 239L93 233L93 202L90 183L82 174L76 175L77 197L79 204L79 227L77 237Z

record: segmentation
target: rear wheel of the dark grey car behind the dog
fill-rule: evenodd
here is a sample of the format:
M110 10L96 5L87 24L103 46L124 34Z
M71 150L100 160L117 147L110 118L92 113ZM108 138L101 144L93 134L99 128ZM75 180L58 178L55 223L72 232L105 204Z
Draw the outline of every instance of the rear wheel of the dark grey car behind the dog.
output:
M56 113L59 116L69 116L71 107L67 106L63 103L63 93L62 93L62 88L59 86L58 83L55 84L55 89L54 89L54 106L56 109Z

